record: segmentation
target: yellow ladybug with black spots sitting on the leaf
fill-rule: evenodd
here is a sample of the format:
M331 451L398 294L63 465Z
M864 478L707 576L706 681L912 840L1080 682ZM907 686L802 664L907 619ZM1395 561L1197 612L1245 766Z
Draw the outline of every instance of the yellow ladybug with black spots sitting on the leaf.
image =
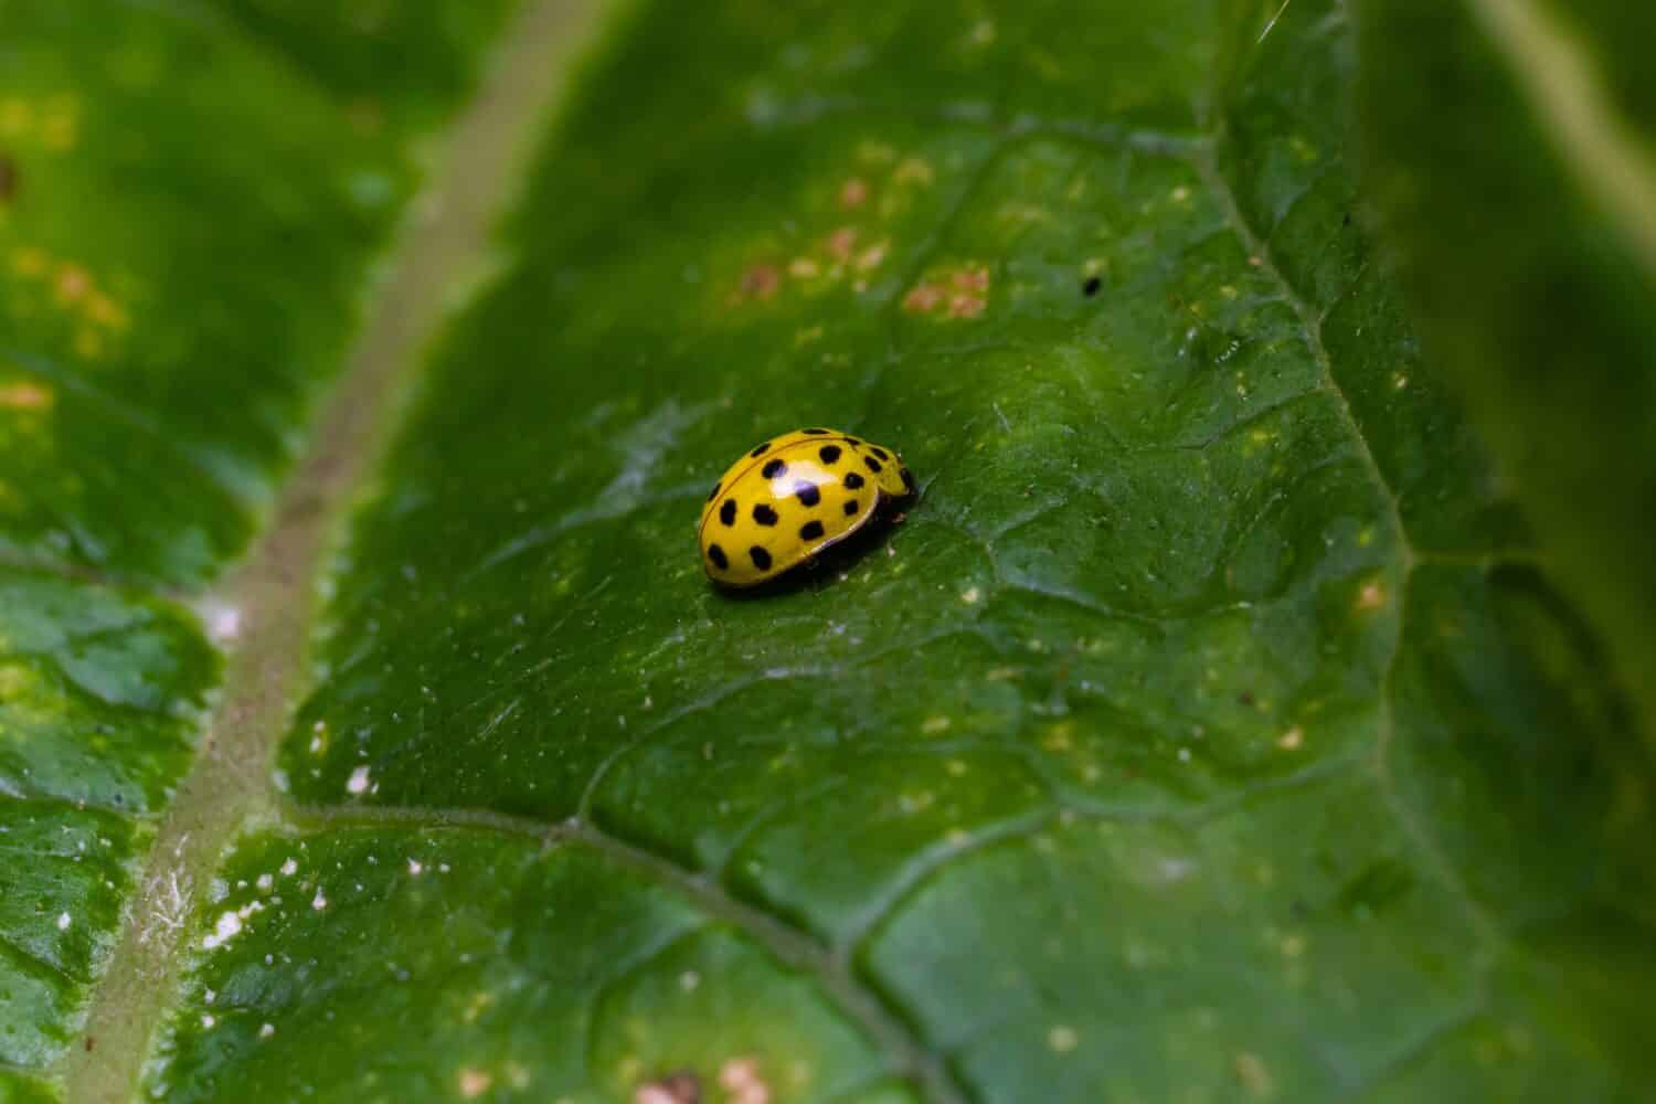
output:
M702 505L702 568L720 586L757 586L851 536L914 493L898 454L836 429L773 437L730 465Z

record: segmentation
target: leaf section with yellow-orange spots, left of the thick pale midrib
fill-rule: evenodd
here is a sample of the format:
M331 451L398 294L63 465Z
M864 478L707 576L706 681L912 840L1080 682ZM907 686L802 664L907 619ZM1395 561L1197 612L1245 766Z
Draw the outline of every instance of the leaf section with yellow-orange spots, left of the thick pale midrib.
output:
M207 8L0 0L0 1099L33 1101L30 1071L94 1046L88 1003L195 758L220 667L195 612L235 626L167 588L199 596L267 513L414 134ZM396 41L335 31L396 71ZM421 36L399 116L475 65L475 33ZM147 877L146 922L182 930L189 879Z

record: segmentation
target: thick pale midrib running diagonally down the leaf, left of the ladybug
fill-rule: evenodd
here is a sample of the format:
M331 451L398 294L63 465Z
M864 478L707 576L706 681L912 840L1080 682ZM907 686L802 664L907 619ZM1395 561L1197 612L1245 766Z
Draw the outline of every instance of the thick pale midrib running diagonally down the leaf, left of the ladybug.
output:
M599 7L532 0L503 33L500 56L449 129L442 167L409 205L386 280L310 450L268 530L220 591L240 611L243 634L195 765L159 818L119 942L93 990L86 1044L71 1046L51 1071L76 1104L136 1096L151 1039L176 996L200 890L233 836L278 813L270 761L306 689L316 581L330 541L404 414L407 379L444 319L454 285L432 273L454 280L484 266L543 109ZM182 895L182 907L172 895Z

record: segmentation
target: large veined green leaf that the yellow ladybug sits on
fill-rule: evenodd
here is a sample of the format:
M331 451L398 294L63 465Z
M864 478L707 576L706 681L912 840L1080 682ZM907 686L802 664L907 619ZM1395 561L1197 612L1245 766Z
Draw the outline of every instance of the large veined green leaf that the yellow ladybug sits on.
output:
M8 7L40 66L81 48ZM1368 237L1343 5L641 3L525 172L585 25L533 2L388 253L490 40L465 8L121 8L263 66L225 81L270 126L192 169L224 230L131 321L167 356L111 361L88 412L0 391L7 485L56 480L0 515L0 814L43 818L0 819L0 965L43 978L0 977L0 1099L1656 1081L1625 641L1555 586ZM348 205L369 154L394 187L353 233L214 175L285 156ZM156 273L194 257L194 223L142 233ZM282 245L215 278L242 233ZM245 344L190 324L217 310ZM18 362L73 353L41 318ZM273 366L230 410L224 358ZM237 480L144 495L118 415ZM917 502L712 589L707 487L815 424L899 449Z

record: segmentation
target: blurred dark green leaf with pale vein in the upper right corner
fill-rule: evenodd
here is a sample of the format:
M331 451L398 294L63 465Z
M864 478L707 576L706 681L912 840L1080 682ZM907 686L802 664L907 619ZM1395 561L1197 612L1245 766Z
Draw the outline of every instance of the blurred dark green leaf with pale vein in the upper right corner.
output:
M1423 338L1656 740L1656 10L1356 8L1370 177Z

